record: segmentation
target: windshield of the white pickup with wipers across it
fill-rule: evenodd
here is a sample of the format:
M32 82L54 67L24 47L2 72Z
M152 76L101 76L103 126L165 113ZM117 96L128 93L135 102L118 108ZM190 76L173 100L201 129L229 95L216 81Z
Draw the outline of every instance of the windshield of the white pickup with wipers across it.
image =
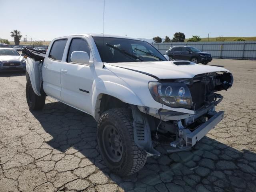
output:
M93 37L93 39L102 62L166 61L166 58L148 42L105 37L103 43L103 37ZM126 55L130 54L131 56L124 55L124 52Z

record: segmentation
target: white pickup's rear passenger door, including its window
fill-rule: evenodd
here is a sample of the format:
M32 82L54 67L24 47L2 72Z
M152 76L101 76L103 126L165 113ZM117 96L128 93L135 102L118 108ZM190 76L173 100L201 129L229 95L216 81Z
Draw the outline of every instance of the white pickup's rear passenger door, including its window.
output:
M44 59L44 91L49 96L60 100L60 68L66 42L68 39L60 39L53 42L49 55Z

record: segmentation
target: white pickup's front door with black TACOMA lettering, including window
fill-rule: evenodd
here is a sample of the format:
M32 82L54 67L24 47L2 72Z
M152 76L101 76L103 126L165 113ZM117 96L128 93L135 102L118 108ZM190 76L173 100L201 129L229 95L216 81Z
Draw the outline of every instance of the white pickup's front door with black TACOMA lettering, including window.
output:
M90 46L86 39L72 38L66 61L61 66L61 100L77 109L91 114L91 95L94 66L89 63L79 64L71 61L70 57L74 51L84 51L93 62Z

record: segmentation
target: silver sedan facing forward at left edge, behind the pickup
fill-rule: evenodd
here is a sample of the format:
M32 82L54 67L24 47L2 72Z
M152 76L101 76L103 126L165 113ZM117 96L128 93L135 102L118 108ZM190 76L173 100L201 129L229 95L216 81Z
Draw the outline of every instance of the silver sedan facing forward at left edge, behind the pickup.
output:
M0 71L26 70L26 59L14 48L0 48Z

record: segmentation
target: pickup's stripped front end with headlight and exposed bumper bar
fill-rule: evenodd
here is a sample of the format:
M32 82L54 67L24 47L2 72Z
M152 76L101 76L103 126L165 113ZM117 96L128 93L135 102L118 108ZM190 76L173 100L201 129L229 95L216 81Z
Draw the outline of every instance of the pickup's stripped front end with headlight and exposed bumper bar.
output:
M228 90L232 84L230 72L149 82L154 100L174 110L132 106L136 144L148 156L160 155L154 149L158 145L168 153L191 148L224 118L224 111L215 111L223 99L216 92Z

